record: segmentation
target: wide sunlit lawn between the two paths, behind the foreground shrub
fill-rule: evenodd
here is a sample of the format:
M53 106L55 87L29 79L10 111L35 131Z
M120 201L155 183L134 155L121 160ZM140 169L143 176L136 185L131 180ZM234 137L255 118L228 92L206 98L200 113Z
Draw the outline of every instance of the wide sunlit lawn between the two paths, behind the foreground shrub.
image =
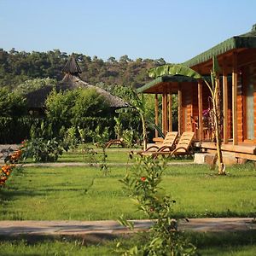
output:
M122 189L125 166L25 167L0 190L0 218L97 220L145 218ZM247 164L219 177L208 166L167 166L162 187L177 203L176 217L255 217L256 171ZM92 184L92 185L91 185Z

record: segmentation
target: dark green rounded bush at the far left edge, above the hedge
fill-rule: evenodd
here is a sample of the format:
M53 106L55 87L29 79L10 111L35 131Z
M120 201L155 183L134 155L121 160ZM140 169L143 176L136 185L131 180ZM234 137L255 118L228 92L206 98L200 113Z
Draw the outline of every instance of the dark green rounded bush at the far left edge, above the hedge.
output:
M26 99L18 92L0 88L0 115L17 117L26 113Z

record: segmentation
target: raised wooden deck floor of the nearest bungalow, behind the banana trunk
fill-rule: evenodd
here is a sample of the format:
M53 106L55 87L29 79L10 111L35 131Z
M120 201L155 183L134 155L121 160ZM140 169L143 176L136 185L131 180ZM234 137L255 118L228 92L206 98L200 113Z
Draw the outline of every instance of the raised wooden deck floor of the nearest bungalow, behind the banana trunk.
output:
M216 151L215 143L202 142L201 148L209 153ZM243 158L247 160L256 160L256 145L249 143L240 143L239 145L233 145L232 143L222 144L221 149L224 152L229 152L237 158Z

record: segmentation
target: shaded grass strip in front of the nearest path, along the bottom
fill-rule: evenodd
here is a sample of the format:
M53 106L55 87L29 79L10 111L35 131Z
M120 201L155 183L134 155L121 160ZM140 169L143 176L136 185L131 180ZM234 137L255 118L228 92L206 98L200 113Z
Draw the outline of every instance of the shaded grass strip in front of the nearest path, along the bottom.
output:
M236 233L185 233L183 239L193 242L200 255L254 256L256 231ZM133 247L138 236L120 239L125 247ZM102 241L98 244L84 244L78 238L55 238L55 240L13 239L0 240L0 255L119 255L114 252L117 241Z

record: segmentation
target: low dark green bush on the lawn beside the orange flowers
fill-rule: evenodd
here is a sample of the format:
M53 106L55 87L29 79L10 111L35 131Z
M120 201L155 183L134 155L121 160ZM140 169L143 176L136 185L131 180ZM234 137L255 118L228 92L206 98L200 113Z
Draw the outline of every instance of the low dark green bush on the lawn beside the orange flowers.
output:
M45 141L43 138L33 138L26 141L22 148L24 160L32 158L35 162L53 162L62 154L62 148L55 138Z

